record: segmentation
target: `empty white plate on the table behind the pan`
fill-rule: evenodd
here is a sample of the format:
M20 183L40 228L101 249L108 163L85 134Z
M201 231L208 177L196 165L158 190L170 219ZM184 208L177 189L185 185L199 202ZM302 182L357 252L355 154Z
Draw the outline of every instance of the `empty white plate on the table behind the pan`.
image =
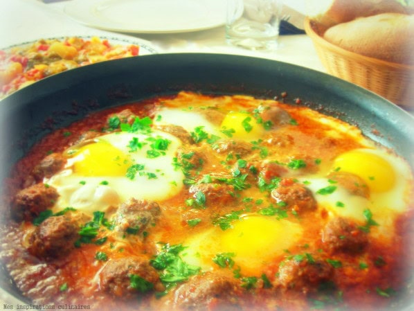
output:
M221 26L225 0L73 0L64 12L87 26L124 33L183 33Z

